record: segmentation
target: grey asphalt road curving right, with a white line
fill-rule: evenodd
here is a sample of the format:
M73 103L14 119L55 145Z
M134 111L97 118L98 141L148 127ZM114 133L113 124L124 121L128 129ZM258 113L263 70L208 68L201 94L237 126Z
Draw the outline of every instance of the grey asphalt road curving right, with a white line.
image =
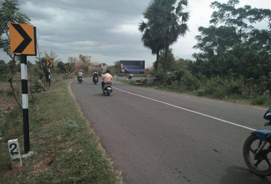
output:
M100 82L85 78L71 87L126 183L271 183L251 173L242 156L250 129L265 129L264 110L115 79L105 96Z

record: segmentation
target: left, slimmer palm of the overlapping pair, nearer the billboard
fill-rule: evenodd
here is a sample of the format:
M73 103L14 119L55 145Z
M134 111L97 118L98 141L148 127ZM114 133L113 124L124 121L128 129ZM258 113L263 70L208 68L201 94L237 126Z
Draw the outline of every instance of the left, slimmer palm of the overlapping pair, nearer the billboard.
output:
M159 65L159 52L164 49L162 40L159 37L155 36L154 30L159 27L157 22L154 22L159 15L158 8L155 6L155 1L151 1L149 6L143 12L143 17L147 19L147 22L141 21L138 27L138 30L143 33L141 41L143 46L150 49L152 54L156 54L156 61L154 62L154 70L158 71Z

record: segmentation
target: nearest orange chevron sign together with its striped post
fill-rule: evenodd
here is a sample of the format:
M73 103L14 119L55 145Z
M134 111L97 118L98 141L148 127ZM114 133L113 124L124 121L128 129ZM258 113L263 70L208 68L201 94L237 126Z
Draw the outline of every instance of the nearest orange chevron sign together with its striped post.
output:
M29 148L27 56L37 56L36 27L28 24L9 22L11 54L20 54L22 82L22 115L25 154Z

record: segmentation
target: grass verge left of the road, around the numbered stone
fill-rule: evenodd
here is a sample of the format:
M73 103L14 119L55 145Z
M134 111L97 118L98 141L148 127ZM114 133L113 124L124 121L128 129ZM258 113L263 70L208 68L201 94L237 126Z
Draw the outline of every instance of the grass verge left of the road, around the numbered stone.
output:
M24 153L22 112L0 114L0 183L123 183L121 172L101 147L70 90L73 79L58 80L29 104L30 150L23 167L10 170L7 142L19 139Z

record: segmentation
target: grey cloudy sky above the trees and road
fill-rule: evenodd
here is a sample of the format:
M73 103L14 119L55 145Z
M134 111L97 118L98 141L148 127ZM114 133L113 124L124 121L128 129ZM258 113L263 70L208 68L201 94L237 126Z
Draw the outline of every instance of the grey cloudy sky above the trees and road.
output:
M209 26L214 0L189 0L188 22L190 32L172 46L176 57L192 59L197 52L199 26ZM227 0L219 0L227 2ZM67 56L91 55L92 61L113 64L117 60L145 60L146 67L156 57L143 47L138 24L149 0L19 0L20 9L37 27L37 41L41 52L53 50L58 58L67 61ZM270 0L240 0L239 6L271 9ZM254 25L266 29L267 24ZM53 45L51 45L41 34ZM55 47L57 49L55 49ZM0 59L10 60L3 51ZM28 56L34 61L34 56Z

